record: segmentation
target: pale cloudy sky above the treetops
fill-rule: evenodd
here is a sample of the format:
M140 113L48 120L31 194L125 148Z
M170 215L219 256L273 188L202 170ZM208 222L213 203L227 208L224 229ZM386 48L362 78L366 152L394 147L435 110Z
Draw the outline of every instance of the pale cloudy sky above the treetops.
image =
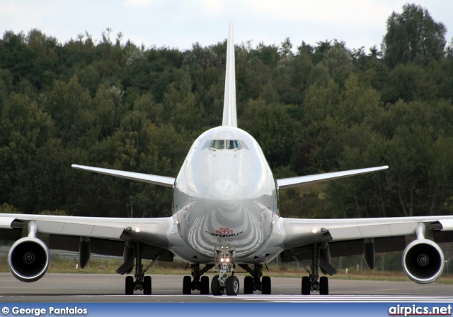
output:
M88 32L101 39L106 28L115 40L122 33L145 48L187 50L194 43L214 45L234 23L234 42L256 47L280 45L289 38L293 50L302 41L316 45L343 40L349 49L380 48L391 13L407 0L0 0L0 32L25 34L37 28L60 43ZM453 37L453 1L418 0Z

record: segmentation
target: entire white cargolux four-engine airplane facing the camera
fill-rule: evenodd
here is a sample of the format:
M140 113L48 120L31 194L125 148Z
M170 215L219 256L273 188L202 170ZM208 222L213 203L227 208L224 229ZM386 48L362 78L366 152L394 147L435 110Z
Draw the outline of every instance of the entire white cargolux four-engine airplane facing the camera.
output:
M270 294L270 277L263 267L277 255L282 262L311 260L302 277L302 294L328 294L328 279L335 274L331 256L362 254L374 267L375 252L403 250L402 265L410 279L426 284L444 269L444 255L435 243L449 239L453 216L355 219L293 219L279 213L282 189L387 169L355 169L287 179L274 179L256 140L237 127L233 26L229 26L222 126L202 133L190 148L178 177L122 172L72 165L76 169L134 179L173 189L173 216L168 218L92 218L1 214L0 236L17 240L8 253L14 277L35 282L50 263L49 248L79 252L83 268L91 252L122 255L120 274L125 293L151 294L145 272L156 260L173 255L188 262L191 276L183 278L183 294L239 294L237 267L248 272L243 292ZM22 230L28 236L22 237ZM38 233L49 235L48 243ZM407 243L409 237L415 240ZM425 238L429 236L430 239ZM433 240L432 240L433 239ZM142 260L151 260L144 267ZM302 264L302 263L301 263ZM204 266L203 266L204 265ZM203 276L214 269L212 278Z

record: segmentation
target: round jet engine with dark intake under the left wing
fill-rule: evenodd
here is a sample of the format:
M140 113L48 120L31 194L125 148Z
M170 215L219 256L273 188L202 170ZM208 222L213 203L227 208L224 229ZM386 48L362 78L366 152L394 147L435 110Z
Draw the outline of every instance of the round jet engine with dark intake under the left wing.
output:
M49 264L49 248L38 238L19 239L8 253L9 269L21 282L38 281L47 272Z

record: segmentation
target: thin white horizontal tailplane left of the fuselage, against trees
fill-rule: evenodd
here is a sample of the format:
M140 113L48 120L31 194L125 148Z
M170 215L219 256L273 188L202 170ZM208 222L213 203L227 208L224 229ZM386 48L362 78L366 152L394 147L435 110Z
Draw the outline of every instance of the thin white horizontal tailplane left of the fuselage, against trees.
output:
M106 174L106 175L115 176L115 177L122 177L122 178L126 178L126 179L132 179L134 181L146 182L146 183L161 185L161 186L165 186L165 187L173 187L173 184L175 183L175 179L173 177L134 173L134 172L125 172L125 171L119 171L117 169L89 167L89 166L75 165L75 164L73 164L71 166L75 169L83 169L85 171L96 172L96 173Z

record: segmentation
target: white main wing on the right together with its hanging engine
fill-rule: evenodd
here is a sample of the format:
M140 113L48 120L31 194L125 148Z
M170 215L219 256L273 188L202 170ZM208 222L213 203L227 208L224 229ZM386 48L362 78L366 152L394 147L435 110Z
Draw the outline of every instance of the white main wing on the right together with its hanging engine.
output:
M403 269L408 277L421 284L432 282L442 274L443 253L437 243L453 241L453 216L348 219L281 218L281 221L280 226L285 232L283 240L285 250L281 253L282 262L310 260L312 245L316 243L324 245L324 247L328 245L329 259L330 257L363 255L364 259L372 262L372 267L374 267L374 252L404 250ZM371 247L369 250L367 250L366 244ZM411 253L411 250L414 252ZM411 254L415 253L417 256L411 258ZM419 261L425 255L428 255L428 259L431 257L431 262L428 260L428 263L424 264ZM424 271L432 270L428 274L429 277L413 271L413 263L417 261L421 267L426 265Z

